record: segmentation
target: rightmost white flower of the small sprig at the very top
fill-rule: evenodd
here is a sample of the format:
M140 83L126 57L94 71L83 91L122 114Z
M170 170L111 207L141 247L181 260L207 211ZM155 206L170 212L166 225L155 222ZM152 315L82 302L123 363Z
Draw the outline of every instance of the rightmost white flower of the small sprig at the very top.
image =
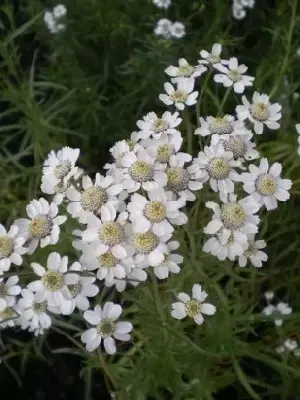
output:
M214 65L214 67L222 72L214 76L214 81L222 83L225 87L233 86L236 93L243 93L246 86L253 85L254 77L243 75L248 67L244 64L238 65L238 60L235 57L230 58L228 67L221 63Z

